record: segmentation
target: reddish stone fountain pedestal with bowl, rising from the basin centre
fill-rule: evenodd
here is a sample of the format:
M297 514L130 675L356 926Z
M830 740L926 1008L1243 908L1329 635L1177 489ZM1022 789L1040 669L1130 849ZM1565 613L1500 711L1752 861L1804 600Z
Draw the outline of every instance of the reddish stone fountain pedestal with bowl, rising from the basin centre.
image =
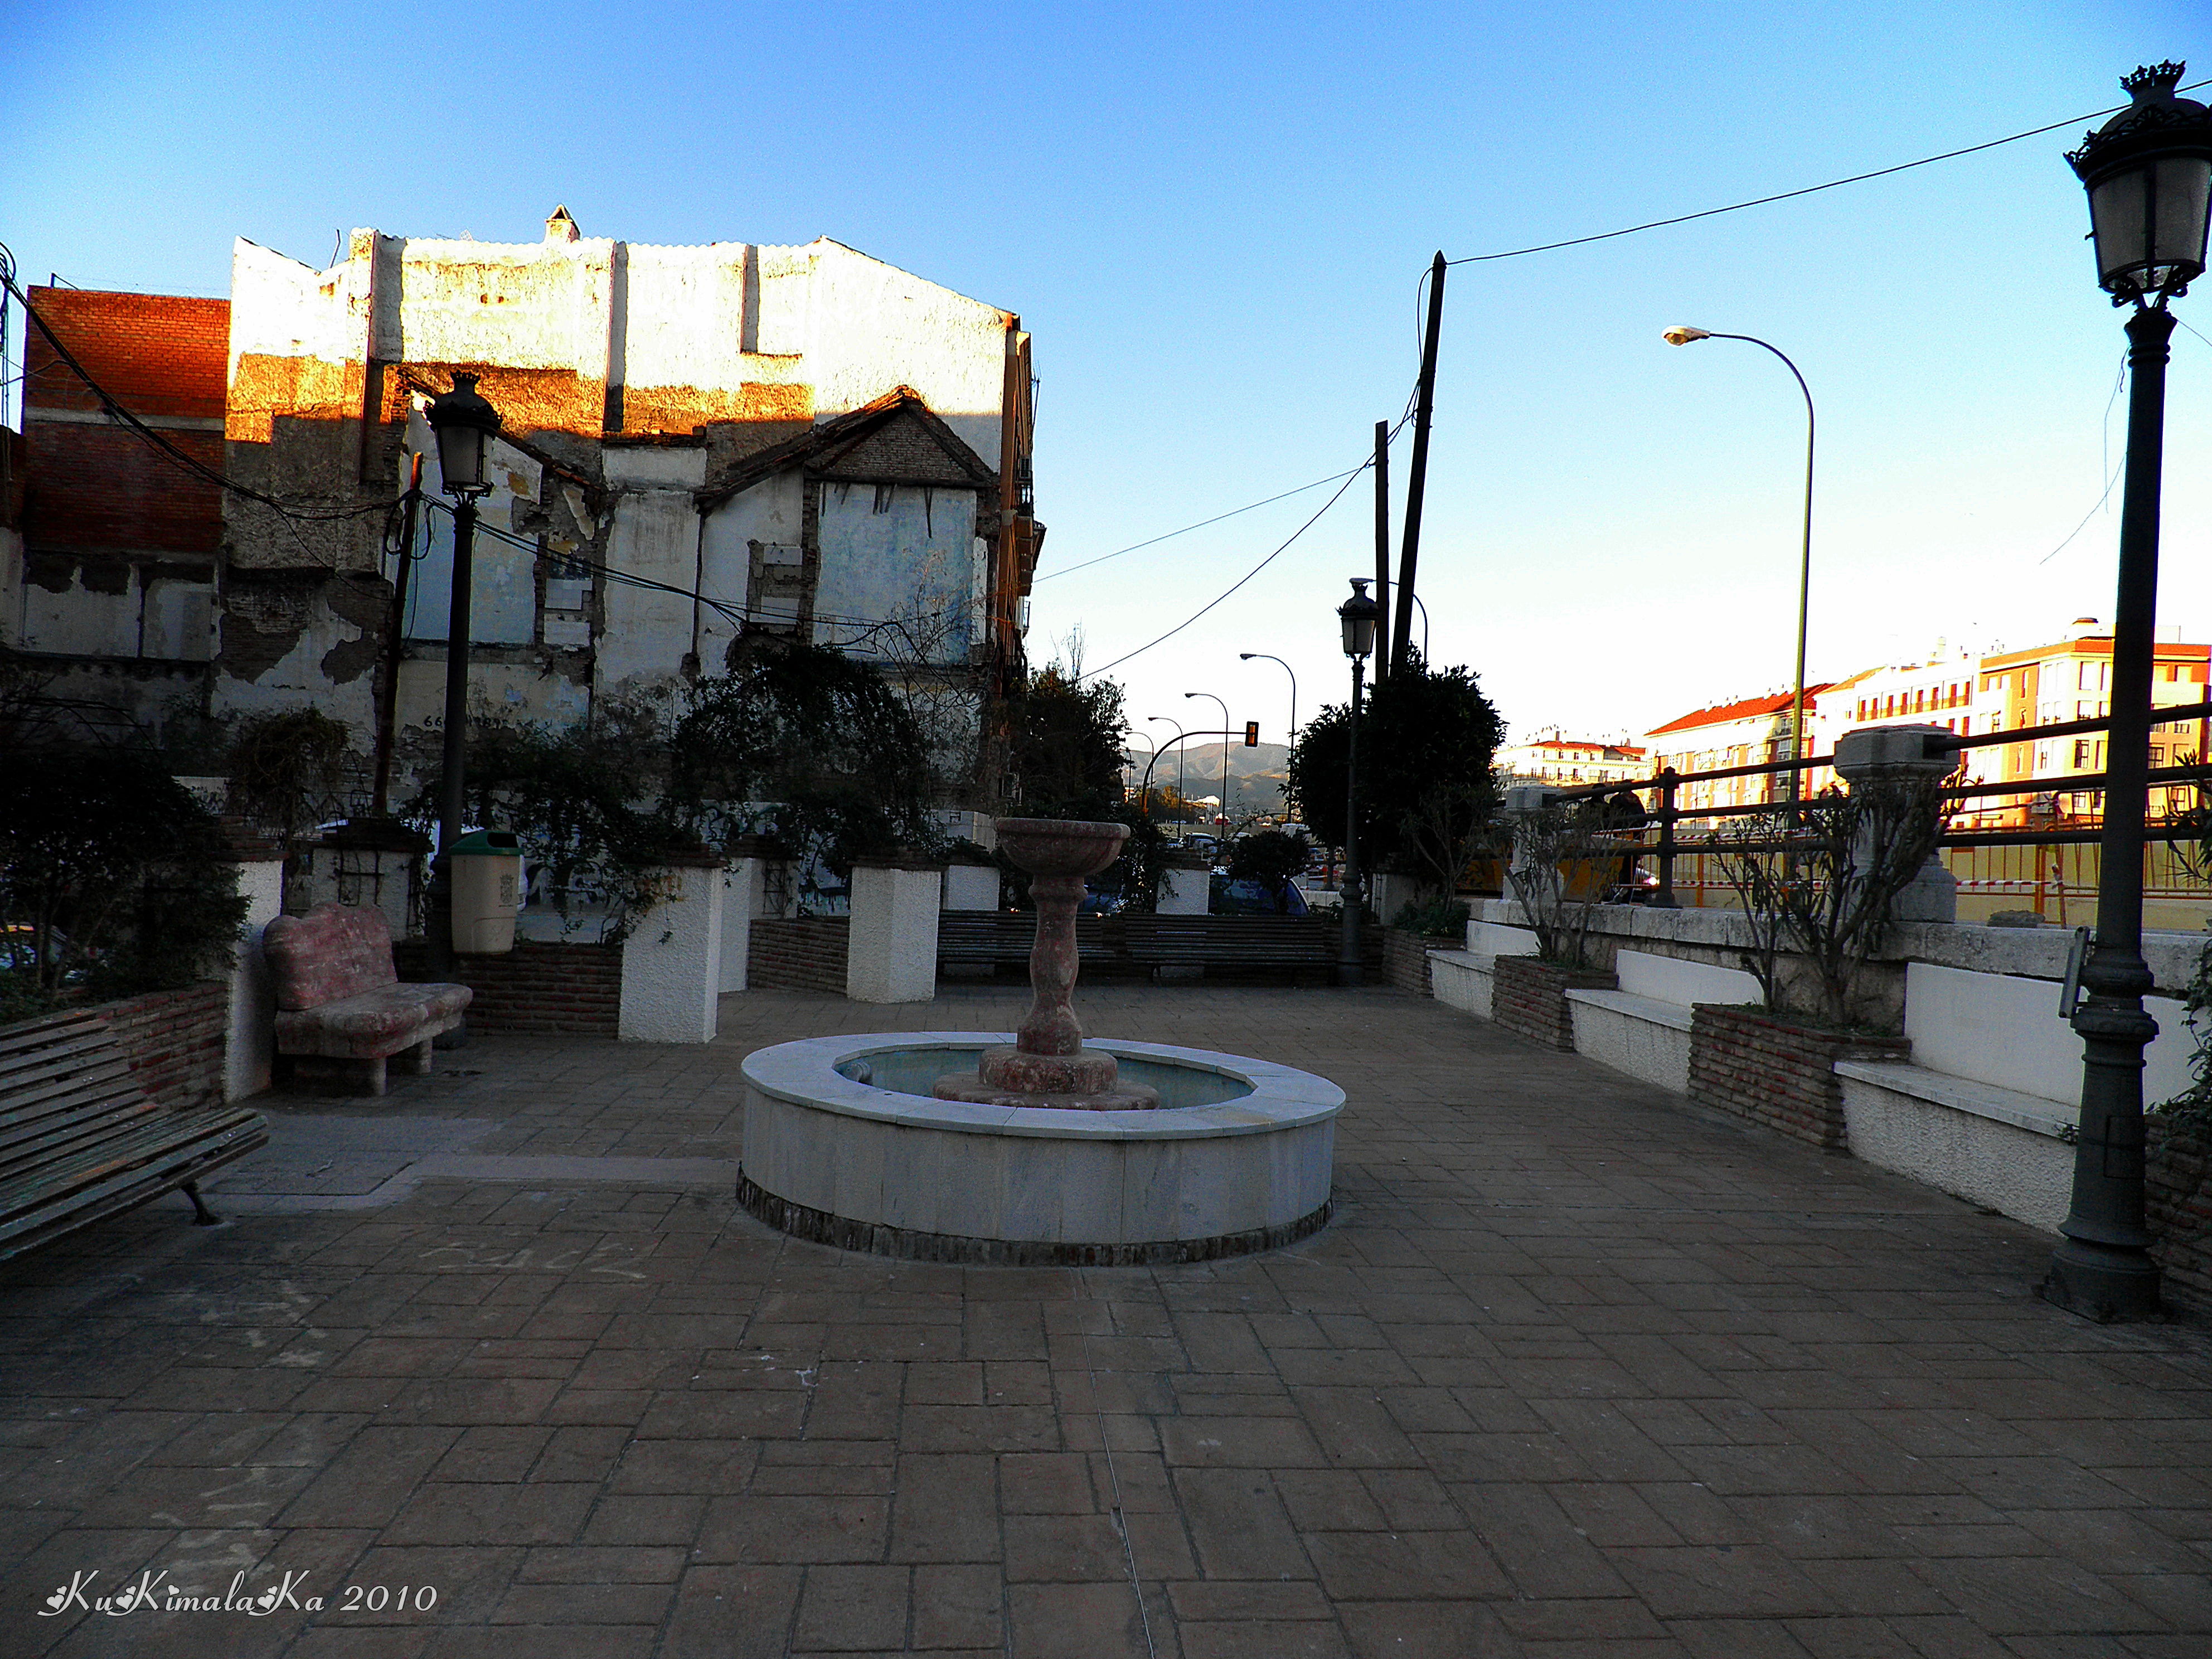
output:
M938 1077L938 1099L978 1106L1130 1113L1159 1106L1159 1091L1121 1084L1121 1064L1084 1046L1075 1018L1075 909L1084 876L1115 860L1128 825L1077 818L998 818L998 845L1029 872L1037 940L1029 947L1029 1018L1011 1046L984 1048L975 1071Z

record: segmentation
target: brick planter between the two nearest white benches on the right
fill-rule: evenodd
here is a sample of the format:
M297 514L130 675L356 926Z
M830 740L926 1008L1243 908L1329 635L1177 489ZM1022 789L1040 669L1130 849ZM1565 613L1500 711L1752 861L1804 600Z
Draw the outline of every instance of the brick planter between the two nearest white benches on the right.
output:
M1690 1099L1840 1152L1847 1133L1836 1062L1909 1053L1905 1037L1823 1031L1765 1009L1699 1002L1690 1015Z

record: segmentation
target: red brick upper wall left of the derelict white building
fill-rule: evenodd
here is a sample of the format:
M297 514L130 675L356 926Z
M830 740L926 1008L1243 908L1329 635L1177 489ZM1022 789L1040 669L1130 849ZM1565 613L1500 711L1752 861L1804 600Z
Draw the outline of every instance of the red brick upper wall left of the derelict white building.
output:
M221 420L230 301L33 288L31 305L117 403L148 420ZM100 398L35 327L24 341L24 540L35 549L212 555L223 498L153 445L104 422L40 420L100 411ZM164 427L210 467L223 434Z

